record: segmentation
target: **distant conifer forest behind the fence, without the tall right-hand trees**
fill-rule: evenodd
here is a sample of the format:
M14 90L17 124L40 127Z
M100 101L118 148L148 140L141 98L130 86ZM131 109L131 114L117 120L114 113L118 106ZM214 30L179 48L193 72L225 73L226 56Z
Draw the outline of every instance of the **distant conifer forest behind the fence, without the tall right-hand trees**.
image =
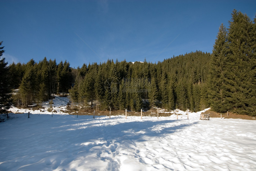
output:
M202 105L200 92L206 80L209 58L209 53L196 51L157 64L146 60L134 64L108 60L102 64L84 64L77 69L71 69L67 61L57 65L55 60L46 58L38 64L34 60L23 65L18 63L16 66L24 66L20 67L24 74L21 74L15 104L37 102L40 105L54 93L66 93L69 89L71 101L78 103L80 108L139 111L141 108L174 110L180 107L198 111L207 106ZM12 68L16 69L15 64ZM13 77L21 76L15 74Z

